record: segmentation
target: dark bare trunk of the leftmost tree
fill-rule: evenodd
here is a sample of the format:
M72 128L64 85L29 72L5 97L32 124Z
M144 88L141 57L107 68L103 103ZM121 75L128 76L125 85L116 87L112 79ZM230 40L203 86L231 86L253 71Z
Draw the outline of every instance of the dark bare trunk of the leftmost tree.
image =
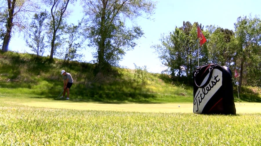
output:
M13 18L14 18L14 7L16 5L16 0L13 1L7 1L8 2L8 14L9 17L7 19L7 28L6 28L6 34L3 39L3 46L2 51L7 52L8 51L8 45L11 39L11 32L13 27Z

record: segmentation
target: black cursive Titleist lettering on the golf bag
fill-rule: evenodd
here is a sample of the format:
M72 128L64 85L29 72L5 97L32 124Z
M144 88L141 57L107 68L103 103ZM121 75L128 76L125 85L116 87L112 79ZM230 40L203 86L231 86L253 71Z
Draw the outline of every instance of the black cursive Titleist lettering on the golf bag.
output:
M220 78L218 78L217 76L214 76L214 81L211 81L206 87L201 88L202 90L198 90L197 95L194 98L194 106L197 106L197 110L198 111L198 107L200 105L200 103L202 102L202 100L205 98L205 96L209 93L209 91L211 91L211 89L220 81Z

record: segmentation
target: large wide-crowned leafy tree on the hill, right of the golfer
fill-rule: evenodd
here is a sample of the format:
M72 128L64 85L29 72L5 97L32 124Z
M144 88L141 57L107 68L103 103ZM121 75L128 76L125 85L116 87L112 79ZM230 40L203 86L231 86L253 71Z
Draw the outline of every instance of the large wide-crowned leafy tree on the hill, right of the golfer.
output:
M126 18L134 20L143 14L147 18L155 9L151 0L84 0L85 37L97 49L98 71L104 67L117 65L126 50L133 49L135 40L143 35L139 26L128 28Z

